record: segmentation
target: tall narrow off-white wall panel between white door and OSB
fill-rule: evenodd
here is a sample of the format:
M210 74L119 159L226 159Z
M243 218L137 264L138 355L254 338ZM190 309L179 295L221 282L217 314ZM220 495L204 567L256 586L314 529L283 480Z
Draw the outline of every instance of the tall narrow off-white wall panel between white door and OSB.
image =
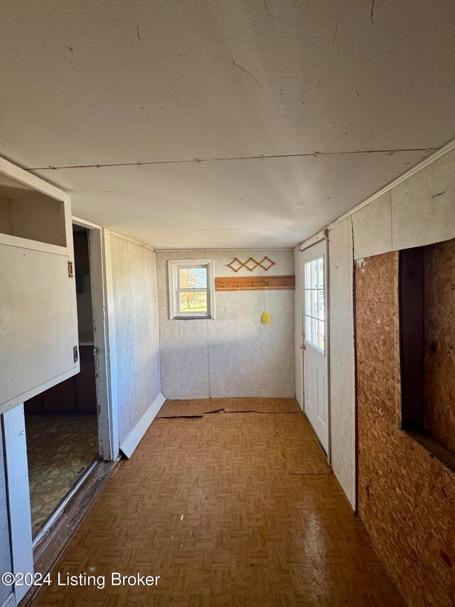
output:
M350 218L328 233L331 456L333 472L355 506L353 242Z

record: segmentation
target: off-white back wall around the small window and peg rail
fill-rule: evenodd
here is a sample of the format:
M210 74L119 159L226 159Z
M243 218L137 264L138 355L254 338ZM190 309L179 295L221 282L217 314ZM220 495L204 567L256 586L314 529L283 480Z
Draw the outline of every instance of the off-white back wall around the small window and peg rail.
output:
M276 262L232 273L232 258ZM161 386L166 398L269 396L292 398L294 383L294 291L267 292L270 324L261 323L262 291L216 292L215 320L169 320L167 260L215 260L215 276L292 275L287 250L157 251Z

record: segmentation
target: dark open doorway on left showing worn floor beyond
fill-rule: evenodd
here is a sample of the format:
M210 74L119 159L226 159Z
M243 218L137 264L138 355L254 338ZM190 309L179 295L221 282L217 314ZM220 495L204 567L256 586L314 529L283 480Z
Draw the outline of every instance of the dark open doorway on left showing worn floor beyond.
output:
M34 538L99 458L87 229L73 238L80 373L24 403Z

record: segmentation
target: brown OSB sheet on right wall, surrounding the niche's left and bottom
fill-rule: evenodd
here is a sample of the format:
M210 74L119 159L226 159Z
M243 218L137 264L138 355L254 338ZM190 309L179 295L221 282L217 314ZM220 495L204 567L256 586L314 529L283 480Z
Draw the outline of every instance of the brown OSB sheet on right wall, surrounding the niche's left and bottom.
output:
M358 513L409 606L454 604L455 475L400 429L398 253L355 266Z

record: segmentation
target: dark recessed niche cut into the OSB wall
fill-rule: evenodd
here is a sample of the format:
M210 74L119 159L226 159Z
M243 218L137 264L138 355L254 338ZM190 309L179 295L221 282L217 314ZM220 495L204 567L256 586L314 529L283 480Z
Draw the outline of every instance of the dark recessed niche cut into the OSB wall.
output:
M455 469L455 239L400 251L402 428Z

